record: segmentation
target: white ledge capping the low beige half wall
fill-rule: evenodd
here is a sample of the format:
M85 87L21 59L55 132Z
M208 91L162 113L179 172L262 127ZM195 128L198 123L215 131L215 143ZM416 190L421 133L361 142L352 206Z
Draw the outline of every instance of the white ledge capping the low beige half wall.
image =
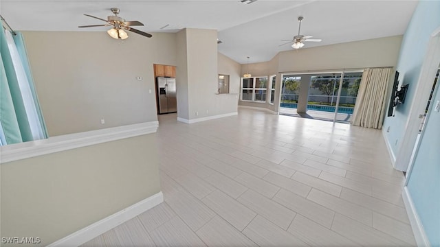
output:
M157 131L158 126L158 121L150 121L141 124L64 134L38 141L4 145L0 147L0 163L18 161L23 158L32 158L88 145L96 145L107 141L137 137L143 134L151 134Z

